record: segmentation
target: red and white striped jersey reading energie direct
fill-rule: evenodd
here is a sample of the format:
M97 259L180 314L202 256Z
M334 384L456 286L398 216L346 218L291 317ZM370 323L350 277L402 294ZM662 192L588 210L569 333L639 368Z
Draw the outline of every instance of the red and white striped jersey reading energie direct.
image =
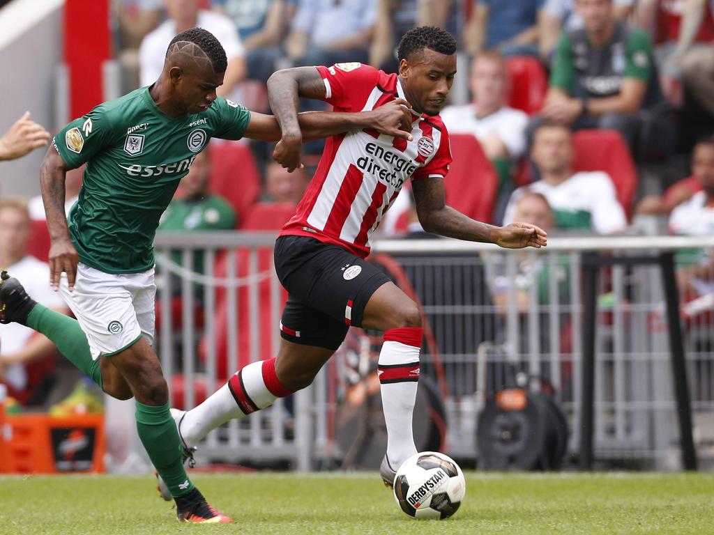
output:
M361 63L317 69L335 111L369 111L405 98L396 74ZM448 173L451 150L441 117L413 112L413 118L413 141L371 129L328 138L315 176L281 235L310 236L366 257L369 238L402 185L409 178Z

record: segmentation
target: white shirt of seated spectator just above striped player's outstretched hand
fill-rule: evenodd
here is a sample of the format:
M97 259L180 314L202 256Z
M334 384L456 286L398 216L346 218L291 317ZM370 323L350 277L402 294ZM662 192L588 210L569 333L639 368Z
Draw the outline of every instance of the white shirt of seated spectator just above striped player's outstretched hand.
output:
M625 211L618 201L613 180L608 173L580 172L558 185L538 180L518 188L508 200L506 215L503 217L504 225L513 223L516 202L526 191L541 193L548 200L556 228L590 229L598 234L610 234L627 227Z

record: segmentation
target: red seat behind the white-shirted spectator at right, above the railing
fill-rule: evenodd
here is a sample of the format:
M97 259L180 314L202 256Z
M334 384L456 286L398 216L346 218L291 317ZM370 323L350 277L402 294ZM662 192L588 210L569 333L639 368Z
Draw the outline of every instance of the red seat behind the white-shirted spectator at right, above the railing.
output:
M573 144L573 169L608 173L625 215L630 218L638 176L630 149L620 133L614 130L580 130L573 135Z

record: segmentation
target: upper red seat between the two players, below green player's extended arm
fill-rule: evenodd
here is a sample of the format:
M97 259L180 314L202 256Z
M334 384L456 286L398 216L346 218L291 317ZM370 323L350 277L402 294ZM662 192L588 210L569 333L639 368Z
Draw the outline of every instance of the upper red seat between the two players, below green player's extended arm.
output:
M243 143L212 143L211 193L221 195L233 206L238 221L261 194L261 175L251 148Z

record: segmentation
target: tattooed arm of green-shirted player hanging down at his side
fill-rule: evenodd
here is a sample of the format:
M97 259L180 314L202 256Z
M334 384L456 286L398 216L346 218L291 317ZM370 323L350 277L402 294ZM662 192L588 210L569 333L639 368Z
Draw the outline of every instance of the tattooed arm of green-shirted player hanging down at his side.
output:
M51 245L49 249L50 285L56 291L59 277L66 272L69 290L74 290L79 255L69 238L67 218L64 213L64 180L66 164L54 147L50 147L40 168L40 189L47 215L47 228Z

